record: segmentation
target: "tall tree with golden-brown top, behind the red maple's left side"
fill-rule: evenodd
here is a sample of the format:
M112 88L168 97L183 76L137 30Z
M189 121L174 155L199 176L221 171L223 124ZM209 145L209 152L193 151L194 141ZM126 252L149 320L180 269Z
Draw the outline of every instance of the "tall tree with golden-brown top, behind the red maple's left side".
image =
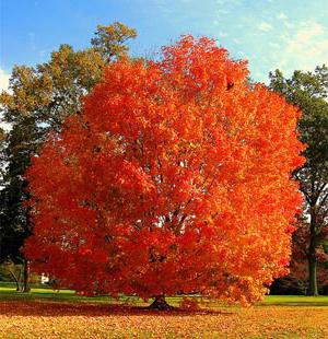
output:
M36 68L14 67L10 79L11 92L2 92L0 104L2 121L11 125L3 149L1 167L1 260L11 258L25 262L24 290L27 287L28 265L20 253L24 239L31 234L28 198L24 172L31 155L37 154L49 131L60 130L62 121L81 110L82 97L102 77L105 65L128 51L127 42L136 31L121 23L98 26L90 48L74 51L62 45L51 54L48 62Z

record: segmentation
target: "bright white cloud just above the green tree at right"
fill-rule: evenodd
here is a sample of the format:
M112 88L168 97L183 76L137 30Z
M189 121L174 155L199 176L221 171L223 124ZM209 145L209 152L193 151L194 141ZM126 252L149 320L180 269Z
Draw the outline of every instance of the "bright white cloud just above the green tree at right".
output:
M289 78L294 70L314 71L328 63L328 26L318 21L276 21L267 34L266 42L259 35L257 52L247 55L255 79L267 82L274 69Z

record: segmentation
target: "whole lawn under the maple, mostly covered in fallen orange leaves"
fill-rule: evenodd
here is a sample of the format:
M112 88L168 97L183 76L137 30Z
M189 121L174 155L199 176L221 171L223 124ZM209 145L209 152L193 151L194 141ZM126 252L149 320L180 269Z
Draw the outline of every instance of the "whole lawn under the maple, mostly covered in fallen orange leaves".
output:
M177 306L180 297L168 297ZM0 284L0 338L328 338L328 296L266 296L250 308L209 304L171 313L138 297L85 297Z

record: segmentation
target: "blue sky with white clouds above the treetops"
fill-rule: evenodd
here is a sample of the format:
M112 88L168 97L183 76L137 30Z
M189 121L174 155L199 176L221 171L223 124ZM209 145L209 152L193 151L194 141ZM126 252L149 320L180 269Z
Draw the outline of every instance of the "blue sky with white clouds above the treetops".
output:
M151 56L181 34L218 39L250 75L328 63L328 0L0 0L0 87L14 65L47 61L60 44L86 47L97 24L138 31L131 52Z

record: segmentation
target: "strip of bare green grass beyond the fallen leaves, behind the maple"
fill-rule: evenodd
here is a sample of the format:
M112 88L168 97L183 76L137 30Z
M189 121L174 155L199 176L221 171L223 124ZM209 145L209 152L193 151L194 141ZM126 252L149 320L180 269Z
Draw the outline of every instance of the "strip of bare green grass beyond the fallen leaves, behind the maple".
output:
M30 293L22 293L15 291L13 283L0 282L0 301L9 300L24 300L24 301L51 301L51 302L73 302L73 303L107 303L107 304L125 304L131 303L138 306L145 306L149 303L144 303L138 296L121 295L119 300L109 297L107 295L97 295L87 297L75 294L71 290L54 291L49 287L32 285ZM169 296L167 302L177 306L181 300L181 296ZM209 307L224 306L223 304L210 303ZM259 307L263 306L328 306L328 296L304 296L304 295L266 295L265 300L257 304Z

